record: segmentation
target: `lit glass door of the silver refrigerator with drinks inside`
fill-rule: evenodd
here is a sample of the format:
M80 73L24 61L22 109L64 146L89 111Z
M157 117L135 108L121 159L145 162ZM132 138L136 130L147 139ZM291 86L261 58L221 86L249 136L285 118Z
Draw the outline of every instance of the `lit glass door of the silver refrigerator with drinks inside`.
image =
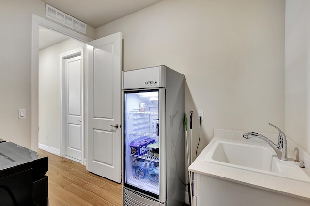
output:
M158 89L125 92L125 186L159 197Z

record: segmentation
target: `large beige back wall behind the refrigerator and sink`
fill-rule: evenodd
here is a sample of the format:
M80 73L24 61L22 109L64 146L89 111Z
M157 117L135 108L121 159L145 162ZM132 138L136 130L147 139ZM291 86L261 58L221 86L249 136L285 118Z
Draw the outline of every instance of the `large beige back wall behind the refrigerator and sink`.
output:
M284 131L284 26L283 0L164 0L96 28L96 38L122 32L124 70L164 64L185 75L193 153L204 111L199 154L214 128Z

